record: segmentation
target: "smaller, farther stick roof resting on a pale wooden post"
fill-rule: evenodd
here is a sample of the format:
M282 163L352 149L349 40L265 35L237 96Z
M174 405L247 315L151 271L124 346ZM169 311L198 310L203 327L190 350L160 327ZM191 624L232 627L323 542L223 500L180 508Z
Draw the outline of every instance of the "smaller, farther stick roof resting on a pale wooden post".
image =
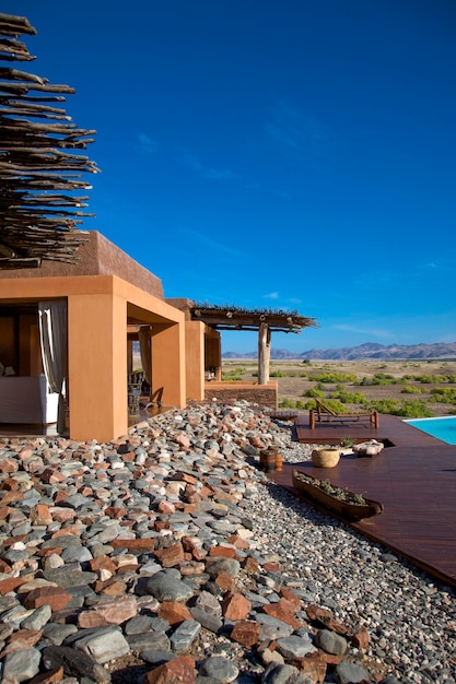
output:
M300 316L297 311L282 309L247 309L230 305L194 303L191 318L215 330L258 330L262 323L274 332L299 333L303 328L316 328L315 318Z

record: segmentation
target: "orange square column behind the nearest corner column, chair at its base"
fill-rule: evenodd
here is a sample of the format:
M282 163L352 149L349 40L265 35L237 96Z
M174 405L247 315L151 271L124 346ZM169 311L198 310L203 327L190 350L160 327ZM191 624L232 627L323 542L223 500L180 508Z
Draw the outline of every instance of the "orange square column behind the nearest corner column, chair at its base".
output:
M185 326L154 325L152 328L151 401L164 406L186 405Z

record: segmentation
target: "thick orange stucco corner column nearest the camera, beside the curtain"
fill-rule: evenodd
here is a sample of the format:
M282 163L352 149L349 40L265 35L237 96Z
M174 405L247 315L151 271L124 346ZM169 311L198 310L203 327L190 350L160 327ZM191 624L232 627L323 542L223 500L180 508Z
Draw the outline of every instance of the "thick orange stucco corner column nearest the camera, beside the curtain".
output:
M109 441L128 432L127 302L68 297L70 436Z

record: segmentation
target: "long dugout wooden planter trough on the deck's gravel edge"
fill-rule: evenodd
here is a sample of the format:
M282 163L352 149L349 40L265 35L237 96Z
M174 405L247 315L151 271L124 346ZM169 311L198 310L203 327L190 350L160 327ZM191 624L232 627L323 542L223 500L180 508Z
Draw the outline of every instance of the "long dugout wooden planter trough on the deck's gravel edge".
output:
M315 503L328 511L336 514L343 520L356 522L363 518L377 516L384 509L383 504L369 498L364 498L364 504L356 504L338 498L337 496L324 492L319 486L317 486L316 482L319 481L316 481L306 473L299 470L293 471L293 486L300 492L300 494L302 494L311 503Z

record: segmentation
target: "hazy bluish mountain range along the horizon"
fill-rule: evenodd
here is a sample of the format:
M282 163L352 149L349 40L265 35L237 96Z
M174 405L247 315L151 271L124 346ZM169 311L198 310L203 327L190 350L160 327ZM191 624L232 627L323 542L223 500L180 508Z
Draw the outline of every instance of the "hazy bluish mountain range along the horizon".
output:
M223 358L257 358L257 352L238 354L226 352ZM287 361L323 359L323 361L359 361L359 359L429 359L429 358L456 358L456 342L434 342L433 344L376 344L366 342L360 346L343 346L335 350L308 350L301 354L288 350L271 350L271 359Z

